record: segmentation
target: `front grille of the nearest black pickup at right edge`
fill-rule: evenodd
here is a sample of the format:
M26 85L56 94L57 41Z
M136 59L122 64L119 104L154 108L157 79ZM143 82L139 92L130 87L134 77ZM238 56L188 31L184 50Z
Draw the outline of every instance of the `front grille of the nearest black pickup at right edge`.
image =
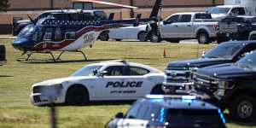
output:
M200 74L194 76L195 90L204 91L207 93L213 93L218 90L218 81Z

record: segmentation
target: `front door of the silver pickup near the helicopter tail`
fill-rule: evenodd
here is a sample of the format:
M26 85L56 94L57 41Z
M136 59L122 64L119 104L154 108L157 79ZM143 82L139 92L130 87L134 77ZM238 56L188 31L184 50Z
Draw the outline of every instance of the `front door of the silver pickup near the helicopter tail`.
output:
M177 25L177 38L192 37L192 15L181 15Z

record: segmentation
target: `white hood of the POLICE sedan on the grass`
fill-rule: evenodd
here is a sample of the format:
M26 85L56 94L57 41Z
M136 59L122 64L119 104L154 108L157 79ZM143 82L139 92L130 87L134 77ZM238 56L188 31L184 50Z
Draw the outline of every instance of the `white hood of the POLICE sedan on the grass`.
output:
M86 79L95 79L96 77L67 77L67 78L61 78L61 79L49 79L49 80L45 80L43 82L37 83L37 84L33 84L33 86L37 86L37 85L54 85L54 84L63 84L64 82L75 82L75 81L80 81L80 80L86 80Z

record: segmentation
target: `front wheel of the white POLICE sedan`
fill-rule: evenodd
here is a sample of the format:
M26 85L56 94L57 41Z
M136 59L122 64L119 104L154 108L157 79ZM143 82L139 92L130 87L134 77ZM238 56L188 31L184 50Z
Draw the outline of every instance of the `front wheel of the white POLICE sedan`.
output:
M89 102L89 95L86 88L82 85L73 85L67 90L67 105L86 105Z

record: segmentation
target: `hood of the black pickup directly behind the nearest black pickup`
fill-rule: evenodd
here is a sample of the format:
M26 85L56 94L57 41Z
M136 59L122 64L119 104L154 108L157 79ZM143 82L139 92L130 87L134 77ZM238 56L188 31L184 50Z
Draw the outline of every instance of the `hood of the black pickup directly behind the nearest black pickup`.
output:
M230 60L200 58L194 60L172 61L169 63L168 67L207 67L228 62L230 62Z

